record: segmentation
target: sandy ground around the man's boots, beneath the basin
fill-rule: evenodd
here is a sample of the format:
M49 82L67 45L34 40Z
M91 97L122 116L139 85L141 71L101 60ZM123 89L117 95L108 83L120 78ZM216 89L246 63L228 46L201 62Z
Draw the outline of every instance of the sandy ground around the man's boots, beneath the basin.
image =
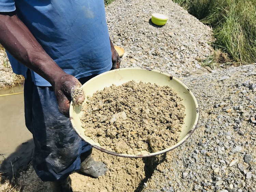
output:
M142 190L144 183L151 177L156 165L163 160L163 156L153 159L129 159L112 156L98 150L94 150L93 157L108 165L105 176L91 178L81 173L71 174L73 191L136 191ZM154 164L152 161L154 160ZM35 174L32 166L26 172L22 172L17 181L22 186L22 191L50 192L48 182L42 182Z

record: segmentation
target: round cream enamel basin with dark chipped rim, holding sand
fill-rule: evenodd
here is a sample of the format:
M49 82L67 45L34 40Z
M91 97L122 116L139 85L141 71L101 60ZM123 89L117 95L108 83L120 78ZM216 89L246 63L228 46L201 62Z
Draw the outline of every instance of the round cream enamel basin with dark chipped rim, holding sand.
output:
M83 105L86 104L87 96L93 95L97 90L102 90L104 87L109 87L112 84L122 85L125 82L130 80L135 80L136 82L144 82L144 83L152 83L157 84L159 86L168 85L173 88L177 94L183 99L182 102L185 105L185 119L182 127L182 132L180 134L179 142L175 145L158 151L154 153L139 153L139 154L123 154L116 153L114 151L106 150L100 146L99 143L94 142L91 138L87 137L84 134L84 128L81 127L82 123L80 118L82 116L82 105L76 106L71 102L70 105L70 120L72 126L76 133L86 142L88 142L91 146L104 151L106 153L113 154L115 156L120 157L130 157L130 158L138 158L138 157L148 157L155 156L161 153L165 153L170 151L177 146L181 145L186 139L194 132L197 126L198 118L199 118L199 106L194 94L189 90L189 88L183 84L179 79L170 76L166 73L160 73L159 71L148 71L141 68L123 68L116 69L112 71L108 71L102 73L88 82L86 82L81 88L84 89L86 99Z

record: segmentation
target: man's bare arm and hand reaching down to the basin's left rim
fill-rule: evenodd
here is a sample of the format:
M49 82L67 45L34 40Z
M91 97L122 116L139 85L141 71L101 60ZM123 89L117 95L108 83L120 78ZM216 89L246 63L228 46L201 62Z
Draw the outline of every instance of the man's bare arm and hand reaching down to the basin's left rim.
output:
M0 34L0 43L15 59L53 86L60 112L69 116L70 95L80 82L54 62L15 12L0 13ZM81 102L84 98L75 100Z

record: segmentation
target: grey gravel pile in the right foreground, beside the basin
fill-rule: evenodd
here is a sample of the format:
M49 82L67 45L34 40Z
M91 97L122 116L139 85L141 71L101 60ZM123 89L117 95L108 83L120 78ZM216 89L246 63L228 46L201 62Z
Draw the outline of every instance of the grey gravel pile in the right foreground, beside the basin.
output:
M200 105L198 128L168 152L143 191L256 191L256 65L183 82Z

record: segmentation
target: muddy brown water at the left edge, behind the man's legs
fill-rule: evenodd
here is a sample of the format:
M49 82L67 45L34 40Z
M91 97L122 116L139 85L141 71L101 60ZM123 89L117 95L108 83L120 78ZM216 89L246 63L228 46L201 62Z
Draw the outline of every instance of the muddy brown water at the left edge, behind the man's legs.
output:
M28 163L32 134L25 126L23 86L0 90L0 171L14 172ZM18 93L18 94L13 94ZM6 96L1 96L5 95ZM12 174L12 173L11 173Z

